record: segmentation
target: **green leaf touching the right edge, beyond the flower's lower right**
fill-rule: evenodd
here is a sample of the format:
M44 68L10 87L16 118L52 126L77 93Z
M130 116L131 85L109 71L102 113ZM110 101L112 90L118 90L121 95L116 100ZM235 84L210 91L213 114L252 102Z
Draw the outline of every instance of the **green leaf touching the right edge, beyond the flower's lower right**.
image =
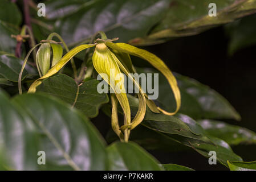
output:
M198 123L210 135L225 140L225 142L230 145L237 145L240 143L256 144L256 133L243 127L209 119L198 121Z

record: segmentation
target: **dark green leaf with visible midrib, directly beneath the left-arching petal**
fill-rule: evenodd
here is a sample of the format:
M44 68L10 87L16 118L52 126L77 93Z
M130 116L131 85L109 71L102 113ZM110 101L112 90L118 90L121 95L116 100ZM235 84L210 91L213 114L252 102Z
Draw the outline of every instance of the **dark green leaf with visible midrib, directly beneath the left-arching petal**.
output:
M73 78L59 74L44 80L36 90L60 98L93 118L99 113L100 106L108 102L107 94L97 92L98 83L93 79L78 86Z

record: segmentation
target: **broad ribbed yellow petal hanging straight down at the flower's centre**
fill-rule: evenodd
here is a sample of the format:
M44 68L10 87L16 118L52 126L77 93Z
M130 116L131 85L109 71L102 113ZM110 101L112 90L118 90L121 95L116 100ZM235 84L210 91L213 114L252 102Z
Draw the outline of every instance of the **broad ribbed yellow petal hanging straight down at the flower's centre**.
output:
M116 98L119 101L124 112L124 124L131 123L131 110L128 98L124 87L124 78L116 80L121 74L121 71L113 59L111 52L104 43L97 44L94 55L92 56L92 63L99 75L110 85L111 89L115 91ZM119 86L116 86L119 85ZM124 130L124 140L128 141L129 130Z

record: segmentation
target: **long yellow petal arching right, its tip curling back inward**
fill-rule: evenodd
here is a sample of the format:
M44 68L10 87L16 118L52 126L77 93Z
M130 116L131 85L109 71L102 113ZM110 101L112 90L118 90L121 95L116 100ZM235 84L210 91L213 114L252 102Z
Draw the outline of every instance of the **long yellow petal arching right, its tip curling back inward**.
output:
M117 51L128 53L130 55L137 56L144 60L147 60L149 63L153 65L153 67L158 69L166 77L170 87L173 90L173 94L176 100L176 110L173 113L169 113L165 110L162 110L160 107L157 107L157 109L159 109L162 113L166 115L174 115L177 113L181 106L180 89L178 89L176 78L173 76L169 68L165 65L164 61L162 61L159 57L157 57L151 52L131 46L129 44L107 42L106 45L112 49L116 49Z

